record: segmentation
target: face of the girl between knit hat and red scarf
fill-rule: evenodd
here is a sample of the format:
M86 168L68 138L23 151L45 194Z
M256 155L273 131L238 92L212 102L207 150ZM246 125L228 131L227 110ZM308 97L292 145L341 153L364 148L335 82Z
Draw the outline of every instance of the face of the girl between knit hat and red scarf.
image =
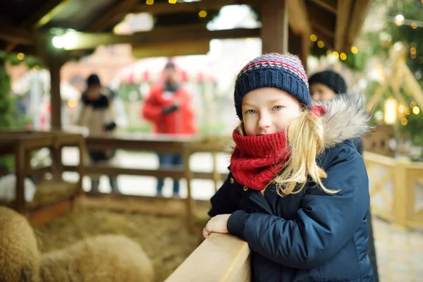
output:
M288 92L264 87L243 98L243 123L248 136L285 131L289 121L300 115L301 105Z

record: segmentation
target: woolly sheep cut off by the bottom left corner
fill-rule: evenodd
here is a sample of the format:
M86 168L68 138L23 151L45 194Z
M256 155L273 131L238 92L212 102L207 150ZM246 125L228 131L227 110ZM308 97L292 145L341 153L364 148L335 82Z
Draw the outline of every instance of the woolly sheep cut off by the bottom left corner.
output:
M0 206L0 282L39 281L39 265L30 224L21 214Z

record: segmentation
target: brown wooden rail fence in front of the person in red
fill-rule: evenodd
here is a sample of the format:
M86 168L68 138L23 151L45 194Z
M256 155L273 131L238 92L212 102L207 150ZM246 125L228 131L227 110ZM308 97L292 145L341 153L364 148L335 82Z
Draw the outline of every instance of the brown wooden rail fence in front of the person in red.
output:
M84 173L87 176L93 174L102 174L109 176L118 176L118 175L133 175L133 176L154 176L157 178L171 177L175 179L185 178L187 180L188 186L188 197L185 201L186 209L186 219L188 228L190 231L195 231L195 206L196 202L192 200L192 188L191 180L192 179L206 179L213 180L215 190L218 188L219 181L226 178L226 173L219 173L217 170L217 160L216 154L218 152L226 152L228 145L231 144L231 139L228 137L188 137L188 136L173 136L168 137L166 135L146 135L146 134L121 134L115 135L114 137L86 137L85 146L87 149L125 149L125 150L142 150L150 152L167 152L167 153L178 153L183 156L183 166L179 168L159 168L159 169L149 169L149 168L122 168L119 166L111 165L90 165L85 164ZM190 168L190 157L192 154L197 152L210 152L213 157L213 169L212 172L196 172L192 171ZM64 171L75 171L76 166L64 166ZM146 197L142 196L111 196L103 195L103 199L107 200L108 206L113 206L118 209L125 205L125 202L147 202ZM110 198L113 197L113 200L118 201L114 204L111 204ZM131 200L131 198L133 198ZM151 202L151 197L149 197ZM87 202L87 200L86 200ZM160 204L173 204L173 207L178 211L179 208L176 207L180 200L169 200L168 198L159 199L156 202ZM94 206L106 205L105 202L100 202L100 200L90 200L90 204ZM200 206L204 207L204 203L201 203ZM159 209L159 206L158 206ZM152 211L152 209L149 209ZM203 211L205 211L203 209ZM154 212L154 211L152 211ZM155 212L154 212L155 213ZM201 214L207 214L202 212Z

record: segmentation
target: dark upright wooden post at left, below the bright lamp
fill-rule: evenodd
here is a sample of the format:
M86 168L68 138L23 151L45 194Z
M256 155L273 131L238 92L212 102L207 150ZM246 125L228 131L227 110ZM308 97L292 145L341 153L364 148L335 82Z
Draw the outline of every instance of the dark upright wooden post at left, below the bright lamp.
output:
M60 94L60 69L63 60L58 56L49 57L50 68L50 105L51 130L61 130L61 94Z

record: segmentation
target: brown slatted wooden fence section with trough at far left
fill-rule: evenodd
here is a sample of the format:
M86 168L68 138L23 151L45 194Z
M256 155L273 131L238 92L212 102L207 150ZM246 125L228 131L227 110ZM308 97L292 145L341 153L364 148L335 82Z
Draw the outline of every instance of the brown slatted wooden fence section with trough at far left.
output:
M73 207L75 198L82 193L83 164L80 162L75 166L75 171L79 174L78 183L64 182L61 178L63 172L61 148L65 146L78 147L82 157L85 148L84 138L80 134L60 131L1 130L0 155L11 154L15 161L16 197L12 202L0 200L0 204L9 205L27 215L32 224L49 221L51 216L59 216ZM50 151L51 166L33 168L32 152L44 147ZM46 173L51 173L51 179L44 178ZM24 198L24 180L27 176L36 176L39 180L34 200L29 203L25 202ZM58 205L59 203L61 205Z

